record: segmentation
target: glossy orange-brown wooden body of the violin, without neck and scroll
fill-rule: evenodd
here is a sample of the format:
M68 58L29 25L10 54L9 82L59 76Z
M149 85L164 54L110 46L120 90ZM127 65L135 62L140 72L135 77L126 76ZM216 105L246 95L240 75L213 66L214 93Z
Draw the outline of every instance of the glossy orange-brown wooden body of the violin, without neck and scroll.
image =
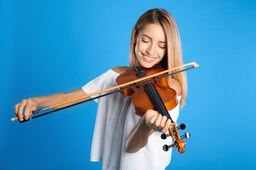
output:
M140 69L140 71L143 71L144 73L146 73L146 75L142 75L142 76L150 76L155 73L164 71L164 69L159 65L157 65L156 67L152 67L151 69ZM163 75L159 75L158 77L161 77L161 76ZM158 77L149 78L148 80L152 80ZM129 72L123 73L122 75L119 75L116 78L116 82L117 84L125 84L126 82L131 82L139 78L140 77L137 77L137 71L134 70L134 71L129 71ZM138 82L137 84L139 83L140 82ZM163 100L167 110L174 109L178 105L177 96L176 96L177 93L173 88L169 87L166 77L160 78L158 80L152 80L152 82L150 83L156 86L156 90L160 94L160 97ZM135 84L130 84L130 86L133 86L133 85ZM126 88L126 87L127 86L123 88ZM139 116L143 116L146 110L149 110L149 109L158 110L156 109L156 106L154 105L154 103L152 103L152 99L150 99L150 97L145 92L144 87L142 85L121 90L120 92L123 93L125 97L126 96L132 97L131 101L135 106L135 114Z

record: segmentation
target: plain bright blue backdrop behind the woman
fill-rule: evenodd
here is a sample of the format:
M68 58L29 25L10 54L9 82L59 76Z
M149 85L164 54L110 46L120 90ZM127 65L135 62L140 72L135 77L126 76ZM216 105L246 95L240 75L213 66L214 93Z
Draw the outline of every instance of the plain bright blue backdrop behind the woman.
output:
M200 64L178 120L192 137L167 169L255 166L256 1L0 2L0 169L100 169L89 161L95 102L24 124L11 122L14 105L128 65L133 25L156 7L175 17L184 63Z

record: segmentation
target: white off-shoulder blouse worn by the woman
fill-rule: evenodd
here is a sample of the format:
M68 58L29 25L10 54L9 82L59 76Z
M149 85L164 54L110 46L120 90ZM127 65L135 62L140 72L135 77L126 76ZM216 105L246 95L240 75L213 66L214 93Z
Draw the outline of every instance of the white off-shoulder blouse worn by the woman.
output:
M106 88L117 86L118 73L108 70L85 86L85 93L98 92ZM180 101L181 96L177 99ZM125 152L125 144L141 117L135 114L131 104L131 97L124 97L116 92L105 97L95 99L98 103L95 131L91 146L91 161L102 161L102 169L165 169L171 161L171 149L163 151L164 144L171 144L172 139L161 139L161 132L155 131L148 138L148 144L138 152ZM179 105L169 111L173 121L177 122Z

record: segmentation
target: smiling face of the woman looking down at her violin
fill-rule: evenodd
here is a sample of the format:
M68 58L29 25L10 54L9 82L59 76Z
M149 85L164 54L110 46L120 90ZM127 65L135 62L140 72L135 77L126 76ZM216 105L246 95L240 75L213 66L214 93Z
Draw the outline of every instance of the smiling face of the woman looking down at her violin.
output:
M140 66L151 68L159 63L167 51L167 42L160 24L144 26L136 37L135 54Z

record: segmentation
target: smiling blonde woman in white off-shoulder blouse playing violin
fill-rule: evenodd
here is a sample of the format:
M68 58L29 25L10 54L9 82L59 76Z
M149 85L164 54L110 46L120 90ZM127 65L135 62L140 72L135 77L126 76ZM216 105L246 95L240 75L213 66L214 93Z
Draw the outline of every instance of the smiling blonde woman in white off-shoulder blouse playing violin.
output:
M181 42L175 20L163 9L148 10L133 28L130 47L130 67L116 67L98 76L81 89L70 93L56 93L46 97L24 99L15 105L19 120L37 106L47 107L87 93L116 86L117 76L135 69L151 68L160 63L165 69L182 65ZM168 83L177 92L179 105L169 111L176 122L179 109L186 100L186 75L169 76ZM134 114L130 97L114 93L95 99L98 103L91 161L102 161L102 169L165 169L171 161L171 150L164 152L161 133L167 132L171 120L156 110L144 116ZM24 117L22 116L24 112ZM168 139L167 139L168 140Z

